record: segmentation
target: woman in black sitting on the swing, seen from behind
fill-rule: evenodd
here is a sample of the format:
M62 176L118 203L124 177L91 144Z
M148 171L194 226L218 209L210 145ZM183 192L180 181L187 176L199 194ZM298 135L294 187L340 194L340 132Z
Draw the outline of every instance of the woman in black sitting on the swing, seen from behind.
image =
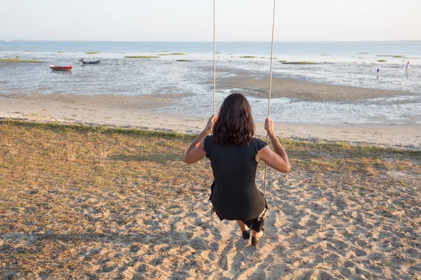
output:
M208 120L205 130L187 149L184 161L191 165L205 155L210 159L215 181L210 200L221 219L236 220L243 239L257 245L265 236L263 227L267 204L255 185L258 162L263 160L279 172L290 171L288 155L274 133L274 122L268 117L265 130L274 146L253 138L255 124L250 104L242 94L230 94L222 103L219 116ZM212 133L212 136L208 136Z

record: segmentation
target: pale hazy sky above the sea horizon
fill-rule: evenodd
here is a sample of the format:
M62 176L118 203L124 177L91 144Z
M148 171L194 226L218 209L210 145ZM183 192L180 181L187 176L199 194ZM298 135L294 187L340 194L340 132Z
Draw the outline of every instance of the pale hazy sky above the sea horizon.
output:
M270 41L272 0L216 0L218 41ZM421 40L421 0L276 0L276 41ZM212 41L213 0L0 0L0 39Z

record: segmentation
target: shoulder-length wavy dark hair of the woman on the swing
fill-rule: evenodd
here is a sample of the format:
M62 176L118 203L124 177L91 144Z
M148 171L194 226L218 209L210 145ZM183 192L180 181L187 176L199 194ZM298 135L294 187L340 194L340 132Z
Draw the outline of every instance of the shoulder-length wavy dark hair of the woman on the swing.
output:
M248 145L253 141L255 124L250 104L240 93L229 94L213 125L213 141L222 146Z

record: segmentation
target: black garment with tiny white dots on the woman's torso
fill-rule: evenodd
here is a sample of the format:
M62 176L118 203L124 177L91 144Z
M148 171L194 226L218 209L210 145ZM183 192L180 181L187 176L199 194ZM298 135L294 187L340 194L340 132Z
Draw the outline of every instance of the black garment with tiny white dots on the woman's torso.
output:
M203 141L215 185L210 200L220 219L248 221L265 209L265 197L255 184L255 157L267 144L253 139L249 145L220 146L208 136Z

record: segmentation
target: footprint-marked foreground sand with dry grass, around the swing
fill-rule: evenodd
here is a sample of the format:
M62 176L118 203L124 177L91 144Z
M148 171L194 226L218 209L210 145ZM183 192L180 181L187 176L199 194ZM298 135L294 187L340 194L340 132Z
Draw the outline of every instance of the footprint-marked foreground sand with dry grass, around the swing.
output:
M421 279L419 151L284 141L293 169L269 169L256 248L211 220L192 139L1 122L1 277Z

